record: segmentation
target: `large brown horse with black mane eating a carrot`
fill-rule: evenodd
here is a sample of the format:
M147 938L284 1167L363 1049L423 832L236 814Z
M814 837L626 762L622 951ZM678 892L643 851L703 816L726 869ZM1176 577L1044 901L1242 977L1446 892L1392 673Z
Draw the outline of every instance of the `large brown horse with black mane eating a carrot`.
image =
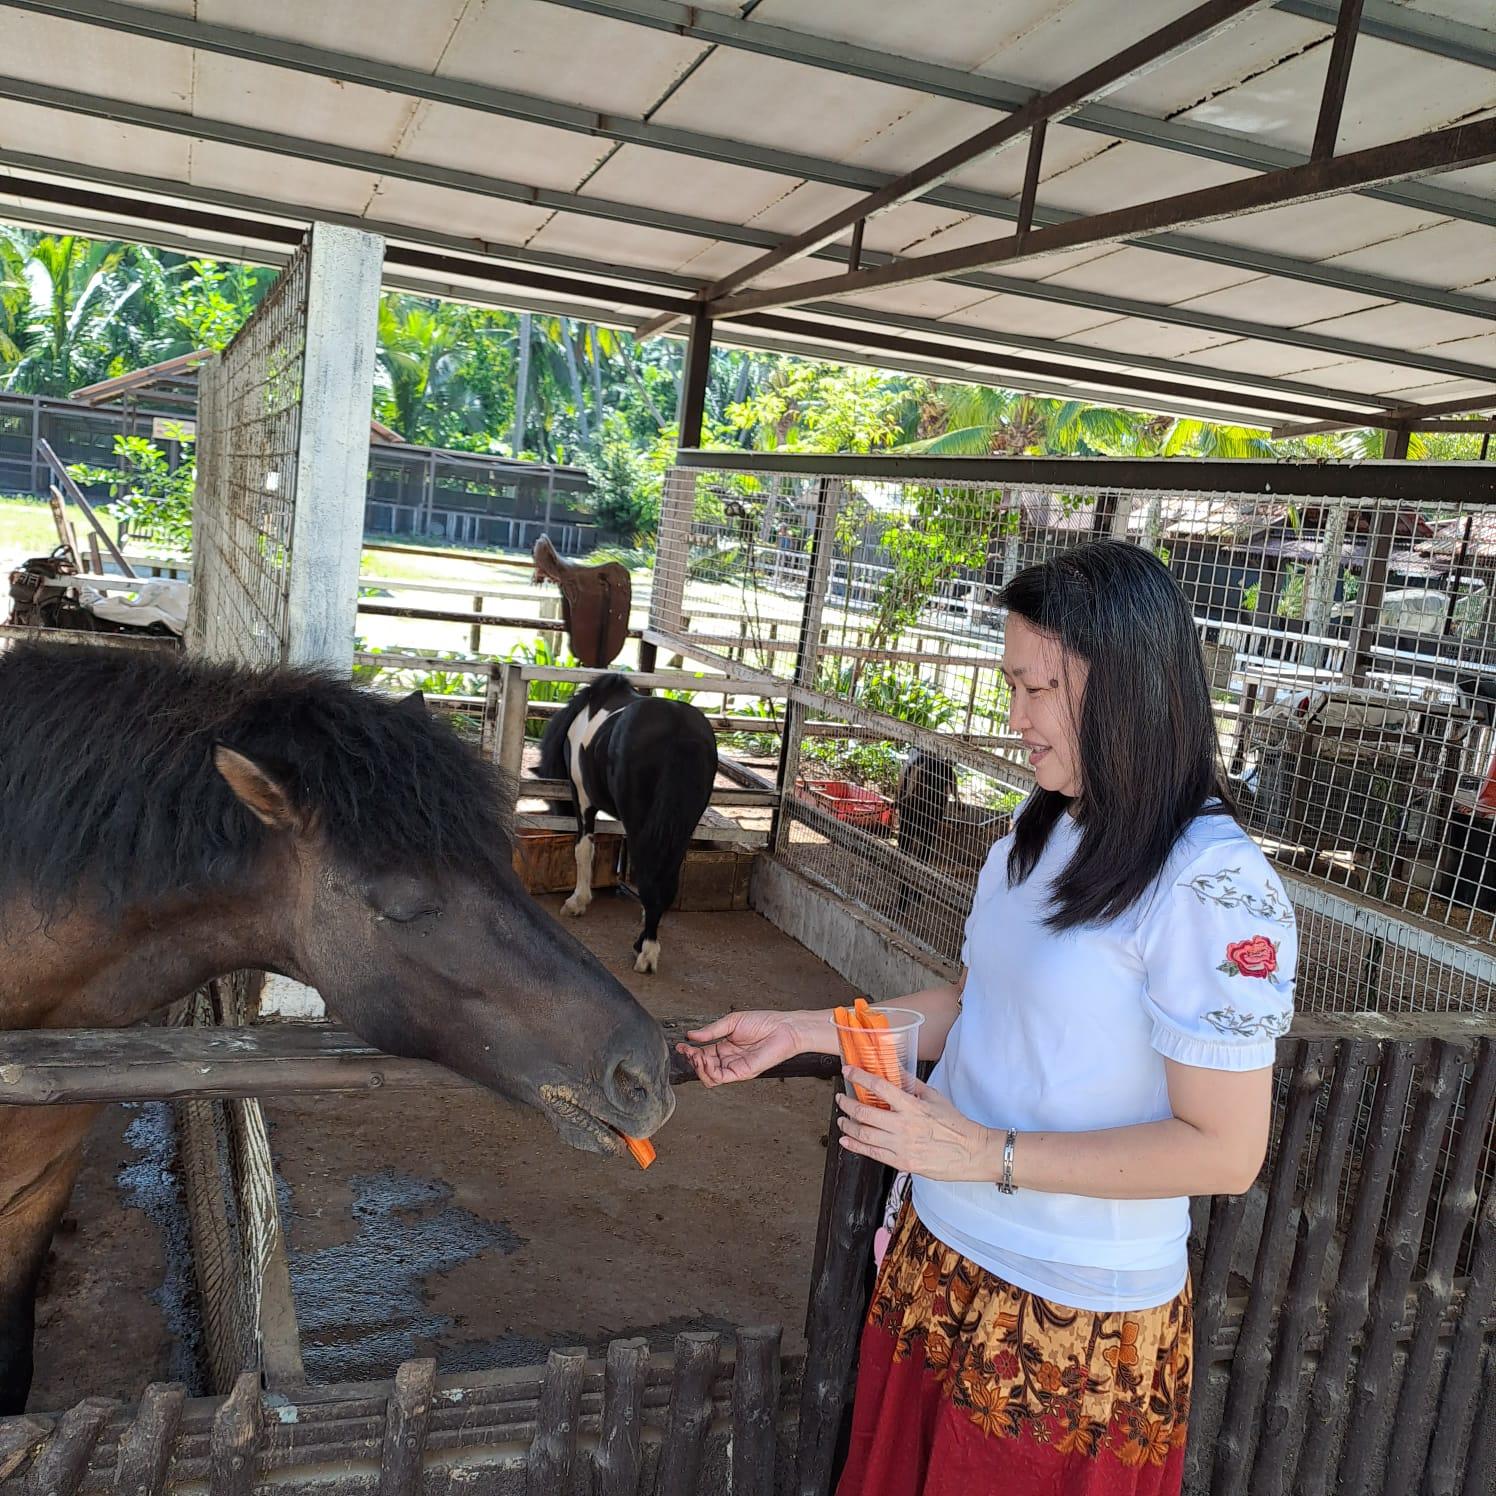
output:
M27 643L0 702L0 1028L118 1028L265 969L574 1147L669 1118L658 1025L525 895L500 785L419 696ZM94 1112L0 1107L0 1414Z

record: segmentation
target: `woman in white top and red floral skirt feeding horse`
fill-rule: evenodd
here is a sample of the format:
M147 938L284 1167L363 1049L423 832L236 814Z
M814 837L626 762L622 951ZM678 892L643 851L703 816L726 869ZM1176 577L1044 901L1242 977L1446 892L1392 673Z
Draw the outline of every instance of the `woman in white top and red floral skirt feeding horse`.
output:
M929 1086L848 1073L841 1146L913 1176L863 1333L842 1496L1174 1496L1192 1372L1191 1195L1267 1147L1294 914L1230 811L1189 607L1149 552L1005 588L1035 790L993 847ZM733 1013L706 1085L836 1053L829 1011Z

